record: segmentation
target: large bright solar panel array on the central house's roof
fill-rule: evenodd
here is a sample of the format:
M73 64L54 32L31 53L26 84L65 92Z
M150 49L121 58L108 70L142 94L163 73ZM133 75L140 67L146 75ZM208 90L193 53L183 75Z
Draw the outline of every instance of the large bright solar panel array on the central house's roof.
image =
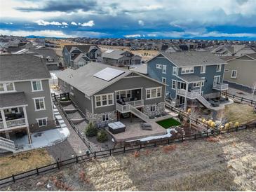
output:
M117 76L120 76L123 74L124 71L121 71L119 69L113 69L110 67L106 67L105 69L102 69L101 71L97 72L93 76L97 78L101 78L105 81L111 81L113 78L116 78Z

